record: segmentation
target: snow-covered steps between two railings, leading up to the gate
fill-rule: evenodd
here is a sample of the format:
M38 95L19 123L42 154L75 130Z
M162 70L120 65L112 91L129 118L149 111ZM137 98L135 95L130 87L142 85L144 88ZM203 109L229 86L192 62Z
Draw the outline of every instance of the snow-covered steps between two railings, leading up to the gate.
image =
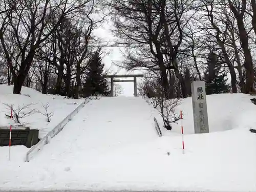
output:
M90 101L38 155L49 160L86 161L95 153L158 138L152 107L142 98L103 97Z

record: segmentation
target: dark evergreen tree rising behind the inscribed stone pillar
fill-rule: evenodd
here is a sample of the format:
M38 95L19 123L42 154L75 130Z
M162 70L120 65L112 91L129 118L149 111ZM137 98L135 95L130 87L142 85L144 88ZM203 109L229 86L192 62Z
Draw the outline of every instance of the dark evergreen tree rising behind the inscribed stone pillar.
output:
M207 67L204 72L206 95L229 93L230 86L227 84L227 74L221 72L221 65L217 55L210 52L207 58Z

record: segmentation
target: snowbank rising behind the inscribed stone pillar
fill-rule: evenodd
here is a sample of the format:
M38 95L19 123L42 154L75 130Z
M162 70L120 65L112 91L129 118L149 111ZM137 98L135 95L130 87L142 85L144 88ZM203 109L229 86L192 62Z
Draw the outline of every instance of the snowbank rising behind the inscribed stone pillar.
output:
M256 96L246 94L217 94L207 95L207 111L209 131L219 132L238 128L251 129L256 127L256 105L251 98ZM194 119L191 97L185 98L176 108L176 112L183 112L184 134L194 134ZM160 121L161 118L158 118ZM173 123L173 130L169 133L180 133L181 122ZM164 131L164 130L163 130ZM255 147L256 150L256 147Z

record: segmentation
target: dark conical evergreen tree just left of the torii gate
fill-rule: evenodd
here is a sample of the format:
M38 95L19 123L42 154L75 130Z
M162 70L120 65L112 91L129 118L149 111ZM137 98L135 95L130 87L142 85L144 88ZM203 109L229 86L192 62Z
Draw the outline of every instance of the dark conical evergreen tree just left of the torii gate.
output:
M83 84L83 96L110 96L108 81L103 78L104 63L98 52L88 61L86 81Z

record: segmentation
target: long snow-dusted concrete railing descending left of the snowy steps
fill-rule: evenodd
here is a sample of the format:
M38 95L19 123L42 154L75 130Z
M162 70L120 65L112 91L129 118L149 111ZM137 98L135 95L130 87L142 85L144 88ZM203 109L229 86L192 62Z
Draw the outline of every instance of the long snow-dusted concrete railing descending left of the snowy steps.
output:
M85 99L77 108L69 114L65 119L63 119L57 126L55 126L52 131L50 131L45 137L43 137L36 145L34 145L26 155L26 162L30 161L30 159L33 157L34 154L36 154L39 150L44 147L47 143L49 143L49 140L53 137L55 137L62 129L63 127L86 105L92 98L89 97Z

